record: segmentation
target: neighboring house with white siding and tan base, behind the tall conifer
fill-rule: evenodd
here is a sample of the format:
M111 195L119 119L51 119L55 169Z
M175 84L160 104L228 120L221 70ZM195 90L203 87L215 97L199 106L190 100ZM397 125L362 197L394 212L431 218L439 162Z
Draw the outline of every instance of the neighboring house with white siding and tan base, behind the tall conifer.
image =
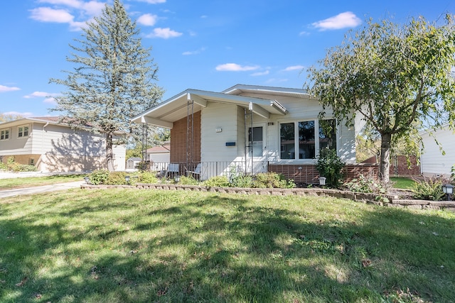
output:
M114 166L125 169L126 147L114 145ZM14 157L41 172L87 172L106 167L105 136L74 128L58 117L0 123L0 161Z

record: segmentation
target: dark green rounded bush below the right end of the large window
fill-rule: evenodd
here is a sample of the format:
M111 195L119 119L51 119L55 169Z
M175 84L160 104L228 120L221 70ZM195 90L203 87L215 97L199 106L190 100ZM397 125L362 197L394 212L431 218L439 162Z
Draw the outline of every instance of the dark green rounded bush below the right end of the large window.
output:
M344 162L336 155L336 150L323 148L317 157L316 170L321 177L326 177L328 187L339 187L343 178Z

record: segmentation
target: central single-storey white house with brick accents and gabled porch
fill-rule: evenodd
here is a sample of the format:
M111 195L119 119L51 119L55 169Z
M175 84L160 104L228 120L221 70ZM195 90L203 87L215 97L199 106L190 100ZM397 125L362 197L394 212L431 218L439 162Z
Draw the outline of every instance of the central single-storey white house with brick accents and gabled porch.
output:
M319 121L321 105L304 89L237 84L223 92L187 89L132 119L171 129L170 162L180 172L200 163L200 178L273 171L296 182L319 177L316 156L333 148L350 167L368 173L376 165L355 165L355 134L331 112Z

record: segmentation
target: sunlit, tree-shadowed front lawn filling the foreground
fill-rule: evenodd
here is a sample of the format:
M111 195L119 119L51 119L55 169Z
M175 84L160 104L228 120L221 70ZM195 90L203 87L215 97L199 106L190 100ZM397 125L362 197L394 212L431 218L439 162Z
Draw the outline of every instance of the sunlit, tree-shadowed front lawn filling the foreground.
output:
M448 211L71 189L1 200L0 302L453 302L454 251Z

